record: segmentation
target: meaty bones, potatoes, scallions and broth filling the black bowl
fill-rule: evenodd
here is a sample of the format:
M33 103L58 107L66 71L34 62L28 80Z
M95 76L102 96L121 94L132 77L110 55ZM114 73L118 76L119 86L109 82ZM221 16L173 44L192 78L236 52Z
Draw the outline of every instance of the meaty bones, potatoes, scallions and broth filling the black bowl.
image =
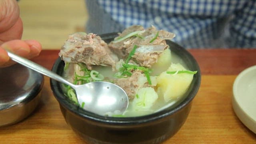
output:
M59 53L65 61L64 77L74 84L107 81L123 88L129 98L128 109L124 114L109 112L106 116L157 112L182 99L196 73L168 48L165 40L174 36L153 26L130 26L109 44L96 34L72 34ZM65 89L66 96L78 104L74 90Z

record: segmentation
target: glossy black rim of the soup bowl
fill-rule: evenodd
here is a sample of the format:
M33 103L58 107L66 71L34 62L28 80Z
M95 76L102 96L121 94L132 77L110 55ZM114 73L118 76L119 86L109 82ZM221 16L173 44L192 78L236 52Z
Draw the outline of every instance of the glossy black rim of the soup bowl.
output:
M109 33L109 34L102 34L100 37L107 43L109 43L111 40L113 40L114 37L118 36L118 33ZM56 80L50 79L50 86L52 88L52 91L54 93L55 98L58 100L60 105L62 105L64 108L70 110L74 114L81 116L83 118L86 118L88 120L94 121L94 122L101 122L102 124L110 124L110 125L134 125L134 124L143 124L148 122L154 122L158 120L162 120L175 112L181 110L183 107L185 107L187 104L189 104L194 97L196 96L198 89L200 87L201 83L201 72L198 63L196 62L195 58L182 46L170 41L166 40L166 43L169 45L172 52L176 54L181 54L182 59L186 61L186 66L192 70L197 70L197 73L194 74L194 78L192 80L192 83L190 84L190 87L188 88L184 99L177 103L176 106L170 106L164 110L161 110L159 112L155 112L149 115L145 116L136 116L136 117L107 117L107 116L100 116L98 114L94 114L92 112L86 111L79 106L72 103L66 96L63 95L63 90L61 88L60 82L57 82ZM56 72L59 75L62 75L64 68L64 61L60 59L60 57L56 60L52 67L52 71Z

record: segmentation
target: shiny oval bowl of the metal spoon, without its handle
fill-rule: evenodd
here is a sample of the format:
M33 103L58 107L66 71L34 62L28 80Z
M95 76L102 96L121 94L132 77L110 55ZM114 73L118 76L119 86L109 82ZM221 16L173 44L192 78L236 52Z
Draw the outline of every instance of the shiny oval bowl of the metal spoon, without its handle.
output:
M82 108L100 115L123 114L128 107L124 90L110 82L90 82L74 85L78 103Z

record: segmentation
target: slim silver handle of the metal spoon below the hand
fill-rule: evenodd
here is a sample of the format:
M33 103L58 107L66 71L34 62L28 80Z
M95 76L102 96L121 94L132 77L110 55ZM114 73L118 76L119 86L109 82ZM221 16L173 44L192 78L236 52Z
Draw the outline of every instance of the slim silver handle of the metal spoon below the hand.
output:
M61 76L59 76L58 74L55 74L54 72L44 68L43 66L40 66L39 64L36 64L26 58L22 58L21 56L18 56L16 54L13 54L12 52L7 51L8 56L15 62L18 62L20 64L22 64L23 66L26 66L32 70L35 70L36 72L39 72L41 74L44 74L45 76L48 76L54 80L57 80L59 82L62 82L64 84L73 86L72 83L68 82L67 80L65 80L64 78L62 78Z

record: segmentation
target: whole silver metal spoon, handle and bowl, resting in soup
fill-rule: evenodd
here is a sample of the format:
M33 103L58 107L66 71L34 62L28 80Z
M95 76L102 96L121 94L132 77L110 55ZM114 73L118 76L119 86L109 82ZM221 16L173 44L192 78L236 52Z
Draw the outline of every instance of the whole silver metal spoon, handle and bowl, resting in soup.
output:
M84 110L94 112L99 115L123 114L128 107L128 96L119 86L110 82L90 82L82 85L75 85L58 74L36 64L26 58L22 58L12 52L8 52L9 57L36 72L44 74L54 80L71 86L76 91L76 97L80 106Z

